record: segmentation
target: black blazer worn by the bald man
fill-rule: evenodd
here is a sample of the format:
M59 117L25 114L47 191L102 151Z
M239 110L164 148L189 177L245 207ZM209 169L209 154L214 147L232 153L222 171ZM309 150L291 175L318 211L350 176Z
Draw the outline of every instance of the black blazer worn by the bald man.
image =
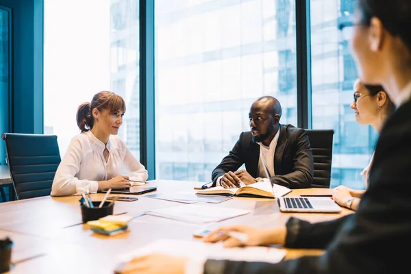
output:
M280 125L274 153L274 172L271 182L288 188L310 188L314 160L307 132L292 125ZM212 171L213 186L224 173L237 171L242 164L254 178L258 177L260 145L253 142L251 132L242 132L232 151Z

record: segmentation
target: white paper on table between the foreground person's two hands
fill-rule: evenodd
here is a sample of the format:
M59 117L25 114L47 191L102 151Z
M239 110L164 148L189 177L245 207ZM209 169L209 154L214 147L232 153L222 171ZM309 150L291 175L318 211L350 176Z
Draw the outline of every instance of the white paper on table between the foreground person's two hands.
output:
M234 260L247 262L277 263L286 256L286 251L275 247L232 247L225 248L223 243L206 243L202 240L159 239L136 251L120 255L121 262L129 262L136 256L150 253L164 253L197 260Z

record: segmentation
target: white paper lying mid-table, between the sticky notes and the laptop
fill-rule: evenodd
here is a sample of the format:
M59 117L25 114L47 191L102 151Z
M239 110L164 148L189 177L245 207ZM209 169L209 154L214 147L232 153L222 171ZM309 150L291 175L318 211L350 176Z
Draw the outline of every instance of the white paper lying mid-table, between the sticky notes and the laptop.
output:
M207 206L199 203L191 203L188 205L150 210L146 214L168 219L175 219L179 221L186 221L188 223L211 223L245 215L249 212L250 210L221 208L216 206Z

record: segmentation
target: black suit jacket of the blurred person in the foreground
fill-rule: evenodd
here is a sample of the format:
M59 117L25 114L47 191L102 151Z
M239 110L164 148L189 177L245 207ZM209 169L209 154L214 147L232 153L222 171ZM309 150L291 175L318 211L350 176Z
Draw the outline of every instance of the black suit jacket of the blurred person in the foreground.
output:
M294 247L323 247L323 256L307 256L278 264L209 260L205 273L210 273L210 268L223 269L221 273L408 272L410 256L407 250L411 244L410 171L411 101L408 101L382 129L375 147L369 188L362 196L357 212L332 222L312 224L311 228L316 228L304 236L298 232L301 225L288 227L287 234L295 233L292 229L297 230ZM318 229L325 232L316 233ZM316 245L316 240L321 240L321 245Z

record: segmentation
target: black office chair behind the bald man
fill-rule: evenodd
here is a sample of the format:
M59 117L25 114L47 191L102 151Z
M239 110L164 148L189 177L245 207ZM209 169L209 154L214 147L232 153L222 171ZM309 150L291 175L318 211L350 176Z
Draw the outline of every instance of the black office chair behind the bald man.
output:
M334 129L306 129L314 158L312 188L329 188Z

